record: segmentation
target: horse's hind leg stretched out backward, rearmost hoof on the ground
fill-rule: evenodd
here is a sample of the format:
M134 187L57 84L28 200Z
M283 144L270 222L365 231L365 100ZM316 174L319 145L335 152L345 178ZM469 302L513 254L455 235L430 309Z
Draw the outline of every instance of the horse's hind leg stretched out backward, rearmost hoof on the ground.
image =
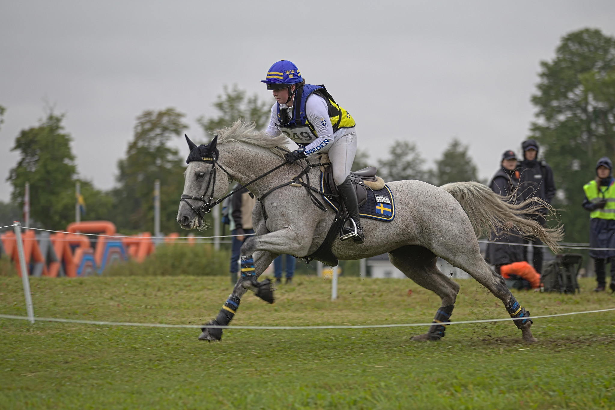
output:
M448 259L448 262L453 266L465 270L475 278L478 283L490 290L496 298L504 303L504 307L506 307L511 318L520 318L514 320L514 322L515 326L521 330L524 342L533 343L538 341L538 339L532 336L532 331L530 329L532 326L530 312L526 311L525 307L522 307L519 302L517 302L515 296L513 296L507 288L504 278L496 274L496 272L489 267L478 251L475 254L461 254L458 258Z

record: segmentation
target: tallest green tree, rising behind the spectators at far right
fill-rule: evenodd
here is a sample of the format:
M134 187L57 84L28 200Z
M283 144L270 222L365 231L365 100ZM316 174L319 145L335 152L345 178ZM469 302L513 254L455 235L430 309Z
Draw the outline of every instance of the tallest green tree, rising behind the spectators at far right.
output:
M615 154L615 38L589 28L569 33L555 58L541 61L539 76L531 138L553 168L566 240L586 242L582 186L595 177L598 158Z

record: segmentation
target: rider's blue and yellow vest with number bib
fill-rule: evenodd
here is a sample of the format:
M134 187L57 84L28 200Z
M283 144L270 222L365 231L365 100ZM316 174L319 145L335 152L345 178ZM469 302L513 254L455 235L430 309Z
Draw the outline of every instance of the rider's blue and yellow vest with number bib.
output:
M351 128L355 126L354 119L352 119L351 115L333 100L333 97L327 92L324 85L305 84L299 87L295 92L292 117L288 115L286 109L280 110L280 104L277 104L277 120L280 122L280 125L277 127L282 134L303 146L308 145L318 138L314 127L309 123L308 116L306 116L306 101L312 93L320 95L320 97L327 101L329 120L333 127L333 133L339 130L339 128Z

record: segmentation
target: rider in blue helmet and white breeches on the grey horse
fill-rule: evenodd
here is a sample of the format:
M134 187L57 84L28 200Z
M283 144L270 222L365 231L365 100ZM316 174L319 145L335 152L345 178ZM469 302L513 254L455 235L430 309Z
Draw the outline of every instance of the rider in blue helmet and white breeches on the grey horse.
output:
M271 136L282 133L300 145L286 154L289 162L317 152L328 153L339 197L357 227L356 231L344 228L341 240L352 238L363 243L357 194L349 177L357 151L354 119L333 100L324 85L305 84L299 69L290 61L277 61L261 82L273 91L277 101L271 108L271 121L265 132Z

